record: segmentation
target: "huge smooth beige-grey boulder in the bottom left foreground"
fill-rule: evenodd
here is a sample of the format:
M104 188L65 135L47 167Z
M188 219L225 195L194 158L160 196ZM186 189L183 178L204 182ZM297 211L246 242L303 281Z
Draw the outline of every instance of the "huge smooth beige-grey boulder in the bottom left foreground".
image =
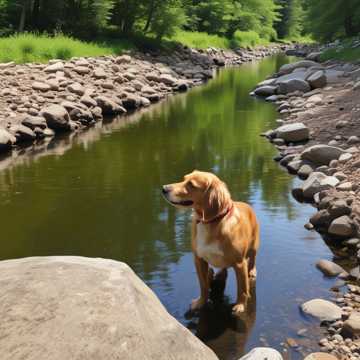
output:
M216 360L124 263L0 262L2 360Z

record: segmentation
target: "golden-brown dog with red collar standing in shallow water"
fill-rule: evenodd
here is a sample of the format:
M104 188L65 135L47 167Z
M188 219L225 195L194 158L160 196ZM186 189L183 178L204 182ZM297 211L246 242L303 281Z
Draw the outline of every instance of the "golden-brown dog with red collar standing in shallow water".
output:
M250 296L250 278L256 278L255 258L259 247L259 225L252 208L234 202L226 185L215 175L194 171L184 181L164 185L163 194L172 205L193 208L192 251L201 295L193 310L206 304L213 271L232 267L237 279L237 301L233 313L245 311Z

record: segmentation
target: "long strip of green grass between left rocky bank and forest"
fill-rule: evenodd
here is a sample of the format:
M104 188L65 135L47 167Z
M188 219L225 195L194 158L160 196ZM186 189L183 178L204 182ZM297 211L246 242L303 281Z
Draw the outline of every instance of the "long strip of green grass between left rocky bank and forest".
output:
M231 49L266 45L268 41L261 39L257 33L252 31L237 31L232 39L202 32L180 31L172 38L165 39L162 43L144 36L85 42L64 35L52 37L26 33L0 38L0 62L15 61L19 64L26 62L45 63L50 59L68 60L74 56L117 55L124 50L135 47L145 51L161 46L171 48L175 43L181 43L198 49L208 47Z

